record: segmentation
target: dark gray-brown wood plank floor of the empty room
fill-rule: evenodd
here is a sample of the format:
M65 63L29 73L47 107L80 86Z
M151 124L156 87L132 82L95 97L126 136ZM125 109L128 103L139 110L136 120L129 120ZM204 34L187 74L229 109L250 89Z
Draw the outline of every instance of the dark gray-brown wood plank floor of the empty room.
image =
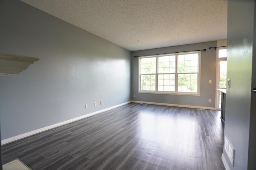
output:
M2 146L32 170L224 170L219 111L130 103Z

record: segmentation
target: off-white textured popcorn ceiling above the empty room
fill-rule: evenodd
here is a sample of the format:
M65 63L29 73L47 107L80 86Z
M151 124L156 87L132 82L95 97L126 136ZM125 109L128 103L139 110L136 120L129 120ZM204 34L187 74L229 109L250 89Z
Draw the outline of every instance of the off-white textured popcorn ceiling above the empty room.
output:
M130 51L227 38L227 0L21 0Z

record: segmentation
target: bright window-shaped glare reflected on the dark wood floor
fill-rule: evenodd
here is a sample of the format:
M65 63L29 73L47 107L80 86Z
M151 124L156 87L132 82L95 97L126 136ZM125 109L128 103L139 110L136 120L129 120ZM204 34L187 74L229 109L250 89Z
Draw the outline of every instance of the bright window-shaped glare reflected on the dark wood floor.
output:
M139 131L146 147L176 148L183 154L195 152L195 140L198 138L197 122L191 117L176 118L170 115L141 112ZM175 129L175 130L174 130ZM168 135L166 135L168 134ZM191 142L188 142L188 141ZM188 145L189 143L189 145Z

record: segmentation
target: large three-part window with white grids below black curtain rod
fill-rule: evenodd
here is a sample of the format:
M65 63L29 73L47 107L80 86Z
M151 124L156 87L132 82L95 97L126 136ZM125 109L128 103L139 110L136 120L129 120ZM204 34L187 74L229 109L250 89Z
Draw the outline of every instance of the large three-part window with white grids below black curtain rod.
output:
M139 92L199 95L200 51L139 58Z

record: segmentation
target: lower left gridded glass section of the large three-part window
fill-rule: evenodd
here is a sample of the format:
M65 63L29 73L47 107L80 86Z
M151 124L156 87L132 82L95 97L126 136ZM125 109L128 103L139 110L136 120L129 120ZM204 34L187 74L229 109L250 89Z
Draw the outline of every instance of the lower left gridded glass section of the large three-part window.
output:
M156 75L141 75L140 77L141 90L155 91L156 90Z

